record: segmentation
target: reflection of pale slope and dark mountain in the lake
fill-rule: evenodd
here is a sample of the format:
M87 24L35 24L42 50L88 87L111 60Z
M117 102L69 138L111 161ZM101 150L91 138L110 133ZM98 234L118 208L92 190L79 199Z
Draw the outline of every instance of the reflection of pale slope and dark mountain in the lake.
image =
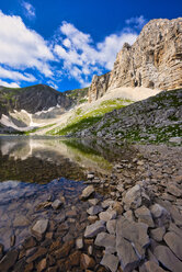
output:
M109 173L111 163L86 143L60 138L0 138L0 180L48 182L84 179L86 171Z

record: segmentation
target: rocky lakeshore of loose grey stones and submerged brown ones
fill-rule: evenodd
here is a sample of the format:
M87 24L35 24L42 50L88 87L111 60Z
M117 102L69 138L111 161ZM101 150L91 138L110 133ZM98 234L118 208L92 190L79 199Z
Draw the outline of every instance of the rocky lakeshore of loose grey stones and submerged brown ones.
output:
M80 195L86 213L65 213L60 200L42 203L58 225L39 219L23 245L13 248L12 240L8 252L1 245L0 271L181 272L182 147L136 148L110 177L88 174Z

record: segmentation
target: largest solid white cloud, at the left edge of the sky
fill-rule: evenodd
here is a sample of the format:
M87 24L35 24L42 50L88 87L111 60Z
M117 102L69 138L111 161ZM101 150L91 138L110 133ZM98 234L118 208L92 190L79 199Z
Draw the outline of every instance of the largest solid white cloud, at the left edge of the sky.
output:
M50 77L48 60L54 56L47 42L27 29L20 16L0 11L0 64L16 69L36 68Z

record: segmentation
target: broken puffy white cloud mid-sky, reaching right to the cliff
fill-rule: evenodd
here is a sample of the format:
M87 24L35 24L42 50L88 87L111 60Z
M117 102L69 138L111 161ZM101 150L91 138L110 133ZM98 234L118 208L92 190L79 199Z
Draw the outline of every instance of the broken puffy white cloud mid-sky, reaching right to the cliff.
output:
M94 44L90 34L79 31L73 24L62 22L54 53L64 61L68 76L84 86L89 75L101 73L103 69L111 70L123 44L133 44L136 37L136 33L124 31Z

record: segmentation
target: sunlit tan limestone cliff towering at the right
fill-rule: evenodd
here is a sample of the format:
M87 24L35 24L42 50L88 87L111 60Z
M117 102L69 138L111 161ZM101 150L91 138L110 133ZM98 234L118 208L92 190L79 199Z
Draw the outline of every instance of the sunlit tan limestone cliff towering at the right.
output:
M103 95L103 89L105 92L120 87L181 88L182 18L151 20L146 24L132 46L124 44L104 86L106 90L101 78L93 78L90 101Z

